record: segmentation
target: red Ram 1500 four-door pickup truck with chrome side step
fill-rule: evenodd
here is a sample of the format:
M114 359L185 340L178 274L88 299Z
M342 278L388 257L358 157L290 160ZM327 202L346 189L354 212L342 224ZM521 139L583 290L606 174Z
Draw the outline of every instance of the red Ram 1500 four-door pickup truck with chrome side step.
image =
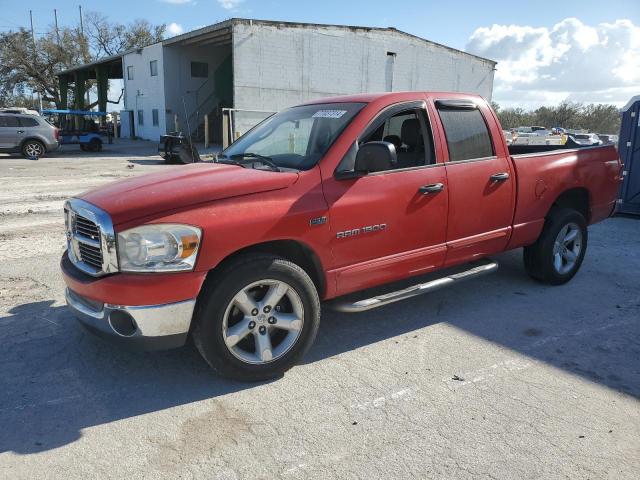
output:
M570 280L587 225L614 209L621 165L613 146L552 148L508 147L474 95L289 108L216 162L70 199L67 303L122 343L171 348L191 335L221 375L278 376L311 346L321 301L364 311L493 271L489 256L519 247L533 278Z

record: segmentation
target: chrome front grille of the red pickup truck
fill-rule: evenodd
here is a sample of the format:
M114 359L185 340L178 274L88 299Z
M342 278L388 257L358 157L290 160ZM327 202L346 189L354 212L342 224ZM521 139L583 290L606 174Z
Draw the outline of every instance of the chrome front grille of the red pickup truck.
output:
M71 199L64 207L69 260L94 277L118 271L111 218L84 200Z

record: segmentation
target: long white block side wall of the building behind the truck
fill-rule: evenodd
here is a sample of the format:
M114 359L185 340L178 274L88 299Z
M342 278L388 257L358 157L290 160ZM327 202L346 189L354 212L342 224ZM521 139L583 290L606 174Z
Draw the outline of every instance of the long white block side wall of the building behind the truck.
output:
M394 31L236 23L234 107L280 110L310 99L387 90L461 91L490 99L492 62Z

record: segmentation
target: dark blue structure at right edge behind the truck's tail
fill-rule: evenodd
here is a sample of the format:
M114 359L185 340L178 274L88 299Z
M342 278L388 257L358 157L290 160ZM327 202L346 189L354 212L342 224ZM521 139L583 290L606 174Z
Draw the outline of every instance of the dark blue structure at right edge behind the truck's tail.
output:
M640 95L622 109L618 139L620 160L624 164L618 212L640 215Z

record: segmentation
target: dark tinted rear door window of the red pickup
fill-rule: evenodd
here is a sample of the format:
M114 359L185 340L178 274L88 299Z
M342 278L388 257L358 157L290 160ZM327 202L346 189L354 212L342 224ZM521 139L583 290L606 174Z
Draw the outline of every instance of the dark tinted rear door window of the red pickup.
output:
M449 161L493 156L493 145L480 110L438 109L449 147Z

